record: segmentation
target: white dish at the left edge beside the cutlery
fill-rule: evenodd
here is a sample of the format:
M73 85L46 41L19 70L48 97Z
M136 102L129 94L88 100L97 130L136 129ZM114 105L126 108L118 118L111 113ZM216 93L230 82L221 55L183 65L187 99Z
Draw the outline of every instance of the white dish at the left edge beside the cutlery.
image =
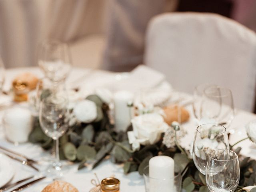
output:
M14 167L12 160L0 153L0 187L6 185L14 176Z

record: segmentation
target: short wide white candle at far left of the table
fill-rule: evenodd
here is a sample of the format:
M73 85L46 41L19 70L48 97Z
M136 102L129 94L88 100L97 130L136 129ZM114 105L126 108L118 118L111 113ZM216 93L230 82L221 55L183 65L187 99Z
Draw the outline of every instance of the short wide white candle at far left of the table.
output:
M4 114L3 123L6 138L10 142L17 144L28 141L33 126L33 117L29 110L19 107L8 109Z

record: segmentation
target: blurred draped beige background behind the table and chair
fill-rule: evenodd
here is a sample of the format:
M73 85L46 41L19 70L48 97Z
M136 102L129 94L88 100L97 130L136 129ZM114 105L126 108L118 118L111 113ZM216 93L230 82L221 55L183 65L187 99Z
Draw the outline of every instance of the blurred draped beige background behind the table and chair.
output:
M255 0L0 0L6 68L37 66L45 39L67 42L74 66L130 71L143 63L148 21L162 12L214 12L256 30Z

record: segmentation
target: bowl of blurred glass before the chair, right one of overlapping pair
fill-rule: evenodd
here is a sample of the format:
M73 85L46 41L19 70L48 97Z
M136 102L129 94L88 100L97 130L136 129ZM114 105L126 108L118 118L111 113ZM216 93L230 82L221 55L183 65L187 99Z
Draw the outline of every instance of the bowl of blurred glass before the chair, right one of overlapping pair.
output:
M210 86L204 90L201 118L228 126L234 118L234 101L228 88Z

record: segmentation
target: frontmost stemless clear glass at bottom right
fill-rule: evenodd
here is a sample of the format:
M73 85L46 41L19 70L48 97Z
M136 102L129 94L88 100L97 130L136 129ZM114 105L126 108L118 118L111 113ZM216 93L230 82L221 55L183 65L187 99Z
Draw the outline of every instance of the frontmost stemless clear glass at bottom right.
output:
M210 152L206 166L206 184L211 192L234 192L240 168L234 151L219 149Z

